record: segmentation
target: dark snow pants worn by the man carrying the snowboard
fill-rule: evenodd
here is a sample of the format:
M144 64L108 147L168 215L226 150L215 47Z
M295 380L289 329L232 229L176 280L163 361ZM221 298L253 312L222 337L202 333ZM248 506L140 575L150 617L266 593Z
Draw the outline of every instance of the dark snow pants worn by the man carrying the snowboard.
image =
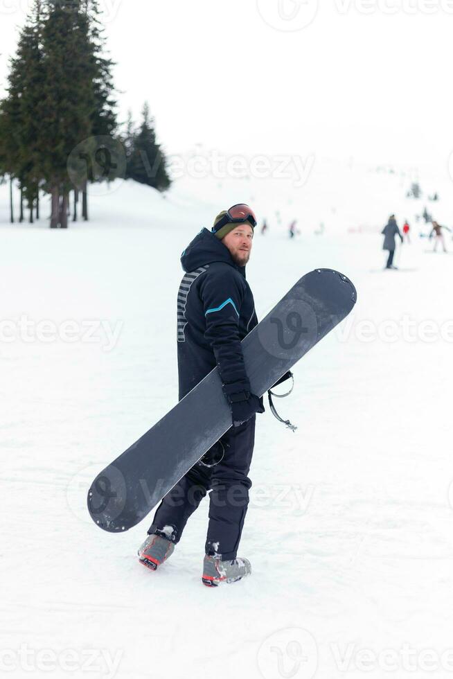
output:
M210 457L219 459L223 453L219 464L206 467L197 462L167 493L154 514L149 534L158 533L178 543L189 516L211 491L205 552L221 555L224 561L236 558L249 504L255 420L253 416L239 427L231 427L206 453L207 461Z

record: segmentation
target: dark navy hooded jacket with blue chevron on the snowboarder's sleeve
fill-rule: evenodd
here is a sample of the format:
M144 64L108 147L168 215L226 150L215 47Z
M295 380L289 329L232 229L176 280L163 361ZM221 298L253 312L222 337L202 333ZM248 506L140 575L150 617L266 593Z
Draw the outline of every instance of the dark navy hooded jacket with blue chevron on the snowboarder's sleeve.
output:
M202 229L181 255L177 300L179 398L215 368L227 394L250 391L241 340L258 324L245 267Z

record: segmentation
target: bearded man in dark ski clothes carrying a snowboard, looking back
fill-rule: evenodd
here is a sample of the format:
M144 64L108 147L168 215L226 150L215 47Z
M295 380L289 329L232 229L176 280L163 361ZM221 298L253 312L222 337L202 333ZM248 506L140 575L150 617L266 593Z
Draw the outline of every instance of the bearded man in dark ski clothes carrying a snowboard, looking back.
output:
M208 586L251 573L238 545L249 503L255 414L263 399L251 393L241 340L258 324L245 279L256 217L245 204L222 211L213 229L202 229L181 256L186 275L177 302L179 399L217 366L231 408L229 431L163 498L139 549L155 570L171 556L189 516L211 490L202 581Z

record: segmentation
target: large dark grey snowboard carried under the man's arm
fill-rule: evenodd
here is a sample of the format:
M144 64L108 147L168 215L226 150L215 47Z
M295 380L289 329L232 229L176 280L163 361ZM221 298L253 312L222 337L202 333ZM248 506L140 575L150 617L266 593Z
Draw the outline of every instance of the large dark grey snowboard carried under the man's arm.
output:
M303 276L242 340L251 390L263 396L348 315L353 283L329 269ZM231 427L215 368L152 429L94 479L88 509L96 524L121 533L138 524Z

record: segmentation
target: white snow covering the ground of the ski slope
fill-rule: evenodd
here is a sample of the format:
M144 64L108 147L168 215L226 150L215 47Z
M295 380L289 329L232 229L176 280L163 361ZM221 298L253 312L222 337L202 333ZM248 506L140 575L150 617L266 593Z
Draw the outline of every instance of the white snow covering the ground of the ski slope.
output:
M355 202L344 184L336 213L336 189L317 194L323 236L313 233L314 196L303 212L305 193L285 203L281 227L268 216L267 236L256 233L248 279L258 317L316 267L349 276L358 301L278 400L296 433L269 407L259 416L239 552L252 576L217 589L200 579L207 500L151 572L136 549L152 515L105 533L86 490L175 404L179 254L217 209L251 194L236 184L233 197L233 182L181 182L167 198L115 185L93 199L89 224L51 231L45 220L10 226L0 187L1 319L12 321L0 345L9 676L30 667L131 679L451 675L453 261L426 254L414 228L398 251L402 270L382 271L385 218L398 210L401 224L423 202L385 200L397 200L400 177L351 172L364 189ZM255 184L263 215L284 191L276 180ZM449 206L437 209L445 222ZM293 242L291 211L303 215ZM366 233L348 233L361 223Z

